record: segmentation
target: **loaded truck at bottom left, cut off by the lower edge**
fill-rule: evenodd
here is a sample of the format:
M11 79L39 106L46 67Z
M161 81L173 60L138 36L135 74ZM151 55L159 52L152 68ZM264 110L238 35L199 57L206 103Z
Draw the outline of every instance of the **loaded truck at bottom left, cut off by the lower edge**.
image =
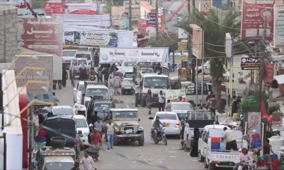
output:
M36 153L36 169L72 169L76 160L76 151L72 148L54 149L44 146Z

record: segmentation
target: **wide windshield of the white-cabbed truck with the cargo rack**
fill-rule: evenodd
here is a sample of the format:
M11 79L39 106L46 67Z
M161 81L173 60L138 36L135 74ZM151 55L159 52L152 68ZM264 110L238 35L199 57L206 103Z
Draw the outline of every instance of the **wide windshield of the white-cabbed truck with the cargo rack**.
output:
M144 81L145 88L154 88L154 89L167 89L168 87L168 78L161 76L151 76L146 77Z

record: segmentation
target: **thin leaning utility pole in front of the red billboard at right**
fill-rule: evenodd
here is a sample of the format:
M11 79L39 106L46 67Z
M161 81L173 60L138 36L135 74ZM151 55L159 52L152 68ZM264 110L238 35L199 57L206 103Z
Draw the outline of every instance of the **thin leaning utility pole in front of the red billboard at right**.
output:
M263 94L263 77L264 77L264 57L265 57L265 44L266 44L266 29L268 27L268 20L265 19L264 21L264 29L263 29L263 40L261 44L261 53L260 53L260 72L259 72L259 91L258 91L258 104L259 109L261 111L261 103L263 101L262 94Z

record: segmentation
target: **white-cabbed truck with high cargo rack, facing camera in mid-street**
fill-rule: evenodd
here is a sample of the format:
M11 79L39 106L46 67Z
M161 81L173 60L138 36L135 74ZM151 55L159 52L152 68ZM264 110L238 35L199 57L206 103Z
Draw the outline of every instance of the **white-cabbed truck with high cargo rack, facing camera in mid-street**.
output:
M158 71L158 73L155 73ZM140 94L138 101L142 107L146 106L146 93L151 89L153 102L158 103L158 94L170 89L170 81L168 79L168 67L151 64L149 62L138 62L133 66L133 84L138 83L140 86Z

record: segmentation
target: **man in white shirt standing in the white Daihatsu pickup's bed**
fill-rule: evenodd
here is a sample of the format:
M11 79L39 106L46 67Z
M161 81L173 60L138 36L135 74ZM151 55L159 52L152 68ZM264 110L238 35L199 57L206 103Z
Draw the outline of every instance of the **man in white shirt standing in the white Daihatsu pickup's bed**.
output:
M234 151L238 151L237 141L235 141L235 134L232 130L229 130L227 127L223 128L224 134L221 136L225 142L225 150L230 151L233 149Z

